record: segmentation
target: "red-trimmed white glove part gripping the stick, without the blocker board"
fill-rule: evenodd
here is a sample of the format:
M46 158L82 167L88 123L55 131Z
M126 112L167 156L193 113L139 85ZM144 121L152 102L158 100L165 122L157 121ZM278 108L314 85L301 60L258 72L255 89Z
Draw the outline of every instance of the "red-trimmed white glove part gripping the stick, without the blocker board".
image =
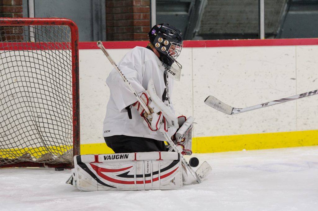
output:
M160 111L160 109L156 108L156 104L152 103L147 91L144 91L140 95L140 98L147 105L150 114L145 111L145 109L138 101L133 104L133 107L138 110L138 113L143 118L144 125L146 125L152 131L158 130L161 127L162 122L165 121L162 112ZM168 131L165 123L162 125L162 127L164 127L165 131Z

